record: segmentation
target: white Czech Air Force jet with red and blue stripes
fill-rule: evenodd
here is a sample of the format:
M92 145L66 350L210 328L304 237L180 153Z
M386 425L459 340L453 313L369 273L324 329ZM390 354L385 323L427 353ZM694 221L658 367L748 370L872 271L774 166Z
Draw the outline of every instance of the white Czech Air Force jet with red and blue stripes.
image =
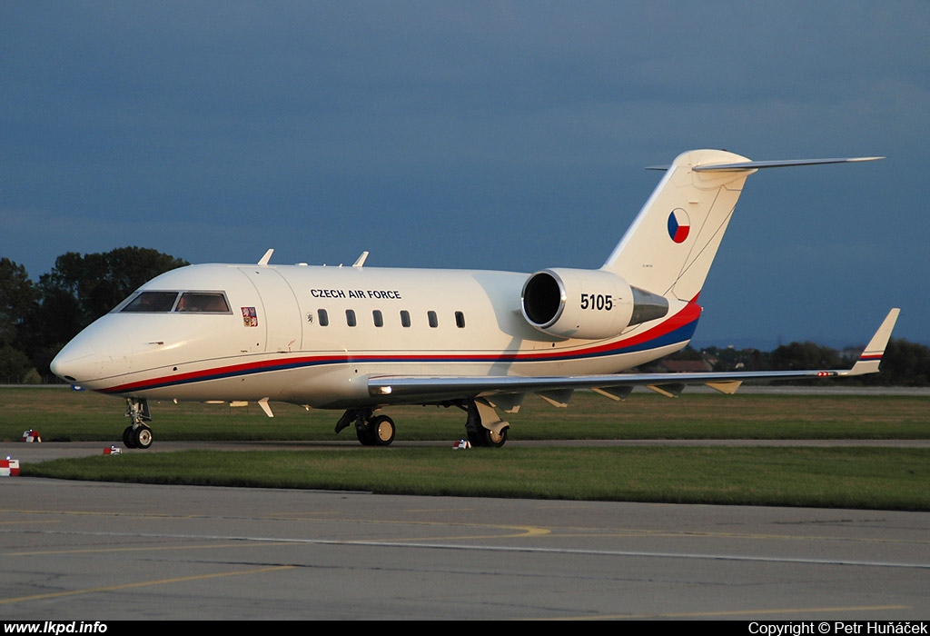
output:
M634 386L677 396L704 384L733 393L748 379L875 373L898 310L851 369L631 373L684 348L697 298L747 177L848 157L751 161L679 155L597 270L534 273L201 264L163 273L86 327L51 363L60 378L126 400L129 448L153 443L149 400L270 402L343 411L336 431L383 446L397 404L456 406L474 446L506 443L534 393L565 406L574 391L622 400Z

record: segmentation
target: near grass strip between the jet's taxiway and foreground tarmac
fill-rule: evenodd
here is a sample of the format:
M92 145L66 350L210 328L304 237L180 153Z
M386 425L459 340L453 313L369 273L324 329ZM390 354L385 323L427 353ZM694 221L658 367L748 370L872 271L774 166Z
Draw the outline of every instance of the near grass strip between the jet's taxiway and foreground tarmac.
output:
M924 448L181 451L60 459L22 473L399 495L930 510Z

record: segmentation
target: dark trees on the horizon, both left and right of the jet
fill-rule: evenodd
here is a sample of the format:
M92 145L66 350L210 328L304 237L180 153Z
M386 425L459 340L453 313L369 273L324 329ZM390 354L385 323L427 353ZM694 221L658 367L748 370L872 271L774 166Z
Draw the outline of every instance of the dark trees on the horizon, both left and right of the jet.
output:
M55 355L81 329L110 311L160 273L189 263L153 249L120 247L55 259L51 272L33 283L25 267L0 258L0 383L57 382L48 369ZM814 342L791 342L774 351L690 346L672 356L702 360L713 370L847 368L858 349L837 351ZM930 386L930 348L892 338L882 373L850 378L867 385Z

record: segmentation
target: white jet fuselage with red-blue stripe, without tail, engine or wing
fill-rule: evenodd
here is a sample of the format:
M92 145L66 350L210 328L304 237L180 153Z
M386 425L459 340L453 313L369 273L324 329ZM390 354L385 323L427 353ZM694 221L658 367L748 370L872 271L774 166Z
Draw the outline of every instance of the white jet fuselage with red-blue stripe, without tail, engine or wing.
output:
M605 339L560 338L521 311L528 274L305 265L194 265L141 292L204 292L222 311L104 315L53 363L87 389L133 398L345 408L392 404L367 379L615 373L684 347L700 309ZM179 296L183 298L183 296ZM591 311L598 311L591 307Z

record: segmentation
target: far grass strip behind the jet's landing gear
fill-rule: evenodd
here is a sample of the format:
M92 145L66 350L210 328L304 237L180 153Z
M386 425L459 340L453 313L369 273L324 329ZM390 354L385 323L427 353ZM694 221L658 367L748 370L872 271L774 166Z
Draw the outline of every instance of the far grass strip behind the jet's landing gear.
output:
M257 404L150 403L159 440L339 441L341 413L307 412L273 404L268 418ZM0 388L0 441L19 440L28 429L47 441L121 441L128 420L121 400L67 389ZM435 406L387 409L398 440L458 439L465 414ZM528 396L507 416L512 440L654 439L930 439L930 396L718 395L685 392L669 399L633 393L622 403L579 391L568 408Z

